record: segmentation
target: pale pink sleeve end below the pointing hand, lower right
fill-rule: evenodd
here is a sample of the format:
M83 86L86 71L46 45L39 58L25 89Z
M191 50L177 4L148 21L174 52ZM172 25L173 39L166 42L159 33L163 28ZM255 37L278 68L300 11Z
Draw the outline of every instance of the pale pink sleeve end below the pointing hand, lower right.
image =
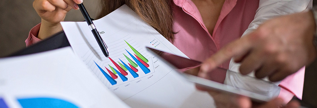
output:
M301 99L303 96L305 67L302 67L296 73L286 77L280 83L281 92L278 97L283 98L284 102L289 102L295 95Z

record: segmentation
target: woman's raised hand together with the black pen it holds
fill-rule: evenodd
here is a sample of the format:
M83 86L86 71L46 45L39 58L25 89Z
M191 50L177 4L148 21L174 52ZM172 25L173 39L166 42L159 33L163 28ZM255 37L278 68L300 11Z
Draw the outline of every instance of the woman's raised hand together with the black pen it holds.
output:
M39 31L38 38L45 39L60 32L62 30L60 22L64 21L66 13L71 9L81 9L81 13L91 28L101 51L106 57L108 57L109 54L107 45L99 35L82 2L82 0L35 0L33 7L38 15L42 18L40 27L41 29Z

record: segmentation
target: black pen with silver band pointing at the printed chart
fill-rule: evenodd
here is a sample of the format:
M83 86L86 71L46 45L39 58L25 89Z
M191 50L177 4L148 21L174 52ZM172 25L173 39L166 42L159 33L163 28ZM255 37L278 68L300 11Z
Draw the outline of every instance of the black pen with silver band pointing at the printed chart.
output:
M86 22L88 23L89 25L89 28L91 30L91 32L93 32L94 36L95 36L95 39L96 41L98 42L99 44L99 47L102 51L102 53L106 56L106 57L109 57L109 51L108 51L108 47L106 45L106 43L102 40L101 36L99 35L96 27L95 27L95 24L93 23L93 21L91 21L91 18L86 10L86 8L84 7L84 5L81 3L81 4L78 4L78 7L82 13L82 15L85 17L85 20Z

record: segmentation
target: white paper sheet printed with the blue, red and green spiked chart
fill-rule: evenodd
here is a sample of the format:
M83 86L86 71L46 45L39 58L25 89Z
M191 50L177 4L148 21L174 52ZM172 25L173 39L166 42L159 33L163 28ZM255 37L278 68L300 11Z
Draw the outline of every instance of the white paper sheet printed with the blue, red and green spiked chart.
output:
M213 106L213 100L207 93L198 92L193 83L185 81L170 67L146 51L145 47L148 46L171 54L187 57L155 29L144 22L128 6L123 5L109 15L93 22L109 48L110 58L115 63L102 54L86 22L61 22L61 25L75 54L86 62L88 67L90 67L105 86L129 106ZM133 51L132 48L140 54L138 55L138 52ZM137 58L136 56L141 58L143 55L145 58L143 61L148 64L148 67L144 68L146 64L143 66L142 64L138 64L137 61L139 59L134 60L128 52L134 58ZM141 60L139 61L141 62ZM102 73L102 70L100 70L96 64L107 74ZM115 64L117 64L118 67L116 67ZM126 71L120 71L120 68L125 67L125 64L127 66ZM132 64L137 64L137 67L135 66L136 69L138 69L138 72L136 72L138 74L137 76L128 69ZM118 72L111 69L110 66ZM143 69L141 67L143 67ZM117 73L115 74L117 78L111 77L113 79L109 80L111 73L114 74L114 72ZM120 73L122 75L120 75ZM126 78L124 78L123 74L126 73ZM121 79L121 77L123 79ZM112 81L112 83L110 81Z

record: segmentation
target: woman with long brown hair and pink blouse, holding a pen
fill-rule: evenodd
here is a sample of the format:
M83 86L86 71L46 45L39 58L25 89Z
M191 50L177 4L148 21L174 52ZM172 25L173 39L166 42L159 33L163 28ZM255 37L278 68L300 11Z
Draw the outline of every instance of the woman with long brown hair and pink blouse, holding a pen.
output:
M240 38L278 15L300 12L310 0L102 0L100 17L123 4L131 7L166 39L189 58L204 61L227 43ZM26 40L31 45L62 30L71 9L82 0L35 0L33 7L42 18ZM99 18L100 18L99 17ZM230 61L220 67L229 68ZM279 97L288 102L294 95L301 98L303 69L281 82ZM218 74L224 82L225 74ZM300 80L300 81L298 81ZM301 82L297 84L297 82ZM298 89L299 88L299 89ZM216 103L218 102L215 98ZM221 101L221 100L219 100Z

